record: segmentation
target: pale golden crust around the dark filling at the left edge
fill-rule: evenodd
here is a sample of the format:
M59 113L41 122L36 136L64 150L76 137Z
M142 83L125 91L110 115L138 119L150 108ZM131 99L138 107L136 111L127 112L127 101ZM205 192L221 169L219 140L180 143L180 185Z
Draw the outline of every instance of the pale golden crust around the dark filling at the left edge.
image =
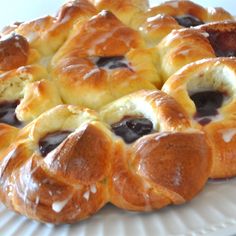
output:
M0 101L19 100L17 118L25 124L44 111L61 104L55 85L48 80L47 71L37 65L5 72L0 80Z

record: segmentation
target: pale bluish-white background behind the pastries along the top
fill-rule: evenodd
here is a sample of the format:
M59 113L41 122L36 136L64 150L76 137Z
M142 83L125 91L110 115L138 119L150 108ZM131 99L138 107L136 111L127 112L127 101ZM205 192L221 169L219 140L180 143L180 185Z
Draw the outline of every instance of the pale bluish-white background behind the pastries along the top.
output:
M114 0L115 1L115 0ZM16 21L26 21L43 15L55 14L65 0L0 0L0 28ZM150 0L157 5L161 0ZM203 6L224 6L236 15L236 0L195 0Z

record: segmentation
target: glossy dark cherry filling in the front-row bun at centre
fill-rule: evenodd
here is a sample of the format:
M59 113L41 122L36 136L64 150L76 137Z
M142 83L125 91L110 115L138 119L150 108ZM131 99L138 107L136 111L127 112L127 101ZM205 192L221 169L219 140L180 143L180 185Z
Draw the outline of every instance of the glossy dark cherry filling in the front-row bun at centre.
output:
M126 143L132 143L140 137L150 134L153 130L153 124L146 118L126 117L111 125L111 128Z

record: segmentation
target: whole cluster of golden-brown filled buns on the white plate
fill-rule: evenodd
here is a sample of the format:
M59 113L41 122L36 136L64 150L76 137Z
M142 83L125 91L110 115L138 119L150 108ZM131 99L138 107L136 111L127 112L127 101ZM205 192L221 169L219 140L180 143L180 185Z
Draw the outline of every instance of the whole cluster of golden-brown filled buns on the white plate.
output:
M72 223L236 176L236 21L173 0L72 0L0 33L0 200Z

